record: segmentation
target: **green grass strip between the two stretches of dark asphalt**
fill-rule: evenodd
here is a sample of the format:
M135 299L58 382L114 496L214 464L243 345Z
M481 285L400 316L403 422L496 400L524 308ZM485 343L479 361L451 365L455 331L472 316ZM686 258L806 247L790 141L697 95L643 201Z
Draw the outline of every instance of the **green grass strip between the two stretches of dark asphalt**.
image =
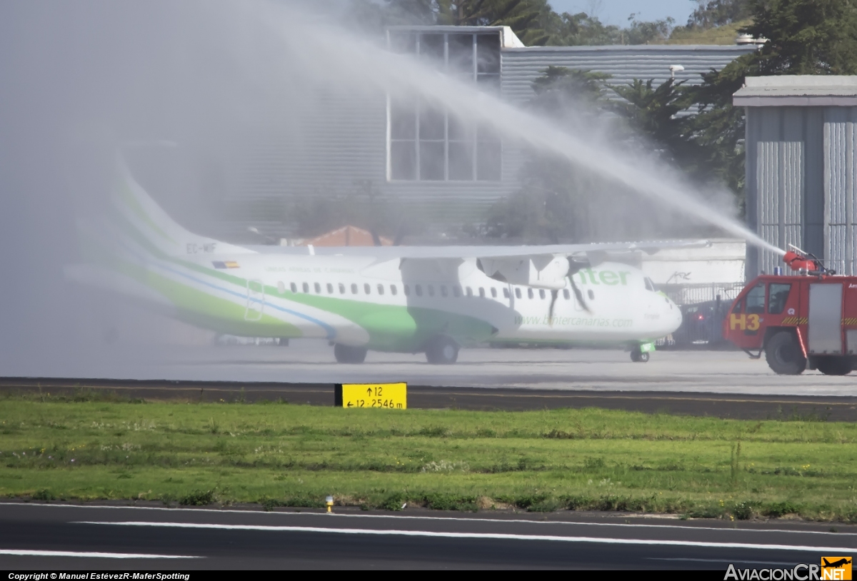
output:
M75 401L75 399L77 401ZM0 400L0 495L857 522L857 425L614 410Z

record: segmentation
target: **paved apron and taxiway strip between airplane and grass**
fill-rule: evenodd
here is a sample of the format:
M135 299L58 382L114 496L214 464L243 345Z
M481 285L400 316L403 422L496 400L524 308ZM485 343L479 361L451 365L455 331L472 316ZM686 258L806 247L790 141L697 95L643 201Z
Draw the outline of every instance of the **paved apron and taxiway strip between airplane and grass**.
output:
M106 388L134 398L333 404L333 384L407 381L409 406L470 410L604 407L736 418L857 421L857 372L774 374L741 351L662 350L634 363L621 350L465 349L454 365L370 352L339 364L321 341L288 347L105 347L97 358L5 361L2 390ZM82 379L75 379L82 378Z

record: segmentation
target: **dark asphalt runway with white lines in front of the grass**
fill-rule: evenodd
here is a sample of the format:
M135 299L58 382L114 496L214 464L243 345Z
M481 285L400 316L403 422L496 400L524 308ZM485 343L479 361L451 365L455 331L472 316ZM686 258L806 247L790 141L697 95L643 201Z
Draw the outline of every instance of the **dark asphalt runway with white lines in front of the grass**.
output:
M630 515L249 512L0 504L7 569L793 567L853 554L857 527Z

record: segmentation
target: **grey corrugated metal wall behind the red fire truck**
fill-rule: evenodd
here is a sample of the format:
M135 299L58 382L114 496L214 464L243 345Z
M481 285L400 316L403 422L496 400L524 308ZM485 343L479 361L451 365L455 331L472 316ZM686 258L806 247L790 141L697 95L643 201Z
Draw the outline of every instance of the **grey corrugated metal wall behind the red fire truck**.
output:
M857 107L748 107L747 222L767 242L792 243L839 273L857 273ZM747 275L782 266L748 248Z

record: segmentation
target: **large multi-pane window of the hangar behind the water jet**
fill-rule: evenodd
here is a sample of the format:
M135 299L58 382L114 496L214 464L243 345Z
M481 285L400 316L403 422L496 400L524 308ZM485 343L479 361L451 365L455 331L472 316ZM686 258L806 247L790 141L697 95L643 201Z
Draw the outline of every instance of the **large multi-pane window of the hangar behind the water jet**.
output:
M416 54L436 69L500 94L500 33L390 31L389 48ZM500 136L419 97L391 97L390 180L488 181L502 177Z

